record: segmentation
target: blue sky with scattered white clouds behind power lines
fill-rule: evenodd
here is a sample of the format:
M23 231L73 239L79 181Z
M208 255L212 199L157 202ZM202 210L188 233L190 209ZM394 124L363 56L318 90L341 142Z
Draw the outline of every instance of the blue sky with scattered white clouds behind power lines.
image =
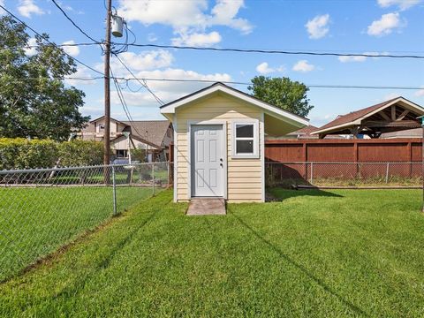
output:
M0 0L0 4L38 32L49 34L53 42L90 42L49 0ZM99 41L104 39L103 0L60 0L58 4L87 34ZM424 0L113 0L112 4L140 44L424 56ZM131 36L130 40L133 40ZM99 47L64 49L102 72ZM27 54L32 54L31 49ZM414 90L311 87L307 96L314 109L308 118L317 126L337 115L398 95L424 106L423 59L135 47L119 57L140 78L250 82L254 76L265 75L289 77L306 85L423 87ZM111 68L115 76L132 77L115 57L111 58ZM73 76L87 78L98 74L79 65ZM208 85L161 81L147 84L163 102ZM81 108L84 115L93 119L102 116L102 79L68 79L67 85L86 93ZM134 119L164 118L159 103L139 83L123 80L120 86ZM233 87L248 92L246 85ZM125 111L113 85L111 88L111 116L125 120Z

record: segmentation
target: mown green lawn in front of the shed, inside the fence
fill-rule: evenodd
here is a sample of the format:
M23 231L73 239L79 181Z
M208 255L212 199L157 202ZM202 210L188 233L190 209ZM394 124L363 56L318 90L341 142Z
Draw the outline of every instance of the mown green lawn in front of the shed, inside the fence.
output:
M171 194L0 285L0 315L424 315L420 191L273 190L191 217Z

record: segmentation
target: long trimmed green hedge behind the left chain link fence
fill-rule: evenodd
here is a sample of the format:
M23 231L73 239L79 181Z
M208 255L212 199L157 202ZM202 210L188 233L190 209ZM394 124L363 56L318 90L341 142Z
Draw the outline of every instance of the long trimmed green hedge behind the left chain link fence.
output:
M60 161L59 161L60 159ZM0 170L51 168L102 164L99 141L27 140L0 138Z

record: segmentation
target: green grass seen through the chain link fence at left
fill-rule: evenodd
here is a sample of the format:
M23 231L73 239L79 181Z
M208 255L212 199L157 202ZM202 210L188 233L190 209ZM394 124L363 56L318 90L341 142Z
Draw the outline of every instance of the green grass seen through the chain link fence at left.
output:
M151 188L117 187L117 212ZM0 281L113 215L111 187L0 188Z

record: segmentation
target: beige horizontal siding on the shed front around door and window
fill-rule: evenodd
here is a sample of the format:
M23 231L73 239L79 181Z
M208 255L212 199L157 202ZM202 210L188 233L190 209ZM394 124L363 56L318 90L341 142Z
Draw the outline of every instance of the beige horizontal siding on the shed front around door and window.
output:
M263 129L262 112L245 102L235 100L224 95L215 95L196 102L193 105L182 107L176 111L176 151L177 151L177 200L187 201L190 197L188 189L189 153L188 153L188 123L197 120L220 120L227 123L227 193L229 202L262 201L261 165L261 131ZM259 120L259 158L233 159L232 147L232 121L234 119L254 118Z

